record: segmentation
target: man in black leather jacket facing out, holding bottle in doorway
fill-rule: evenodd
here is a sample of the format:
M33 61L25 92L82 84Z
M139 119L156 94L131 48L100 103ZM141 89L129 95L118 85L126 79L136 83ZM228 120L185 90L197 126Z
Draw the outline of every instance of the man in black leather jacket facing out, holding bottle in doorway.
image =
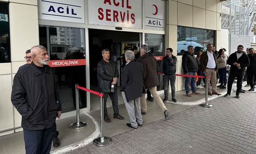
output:
M112 101L112 107L114 110L114 118L123 120L124 117L119 115L118 111L118 97L116 91L116 83L119 77L116 64L109 60L110 52L108 49L103 49L101 51L103 59L97 64L97 78L98 78L98 88L100 92L103 92L104 100L104 121L111 122L108 117L107 111L107 98L108 95ZM112 88L114 87L114 88ZM112 89L112 90L111 90Z

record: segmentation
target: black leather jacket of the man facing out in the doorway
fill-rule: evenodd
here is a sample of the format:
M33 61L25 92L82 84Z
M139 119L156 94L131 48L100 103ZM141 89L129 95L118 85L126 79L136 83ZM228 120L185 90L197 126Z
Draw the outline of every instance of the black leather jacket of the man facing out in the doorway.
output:
M103 59L97 64L97 79L98 79L98 88L100 92L110 92L111 91L111 83L113 81L113 77L110 75L108 70L108 66L104 62ZM119 73L116 67L116 64L112 61L109 61L109 64L113 68L114 77L119 77ZM116 86L115 86L116 89Z

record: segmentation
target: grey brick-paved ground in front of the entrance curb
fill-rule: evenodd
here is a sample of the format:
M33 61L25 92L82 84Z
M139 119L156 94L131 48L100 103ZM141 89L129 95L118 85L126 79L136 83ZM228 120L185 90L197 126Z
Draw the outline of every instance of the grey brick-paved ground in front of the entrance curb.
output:
M69 154L256 154L256 93L234 96L115 135L107 147L89 144Z

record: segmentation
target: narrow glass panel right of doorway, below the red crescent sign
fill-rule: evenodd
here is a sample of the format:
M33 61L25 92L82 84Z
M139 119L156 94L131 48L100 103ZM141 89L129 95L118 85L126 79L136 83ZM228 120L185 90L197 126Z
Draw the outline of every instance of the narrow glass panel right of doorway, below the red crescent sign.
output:
M145 34L145 45L148 47L148 52L153 56L165 55L165 40L164 35L161 34ZM157 61L160 66L161 61ZM160 85L157 86L157 90L163 90L163 76L158 75Z

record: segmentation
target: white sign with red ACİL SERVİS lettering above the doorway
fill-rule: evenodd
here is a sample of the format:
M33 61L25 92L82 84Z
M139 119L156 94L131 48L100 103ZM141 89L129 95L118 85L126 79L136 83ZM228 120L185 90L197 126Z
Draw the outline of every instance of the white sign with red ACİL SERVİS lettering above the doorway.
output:
M89 24L142 28L142 0L88 0Z

